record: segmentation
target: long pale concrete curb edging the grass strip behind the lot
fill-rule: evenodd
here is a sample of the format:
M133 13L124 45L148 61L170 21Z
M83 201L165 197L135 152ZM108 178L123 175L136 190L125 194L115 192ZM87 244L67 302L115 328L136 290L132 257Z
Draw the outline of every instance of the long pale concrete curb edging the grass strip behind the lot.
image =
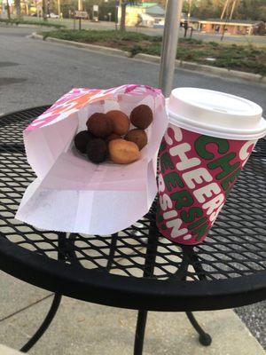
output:
M30 35L29 37L43 40L43 36L37 35L35 32L32 35ZM58 38L52 38L52 37L47 37L45 39L45 41L53 42L53 43L63 43L63 44L71 45L76 48L83 48L83 49L87 49L90 51L97 51L97 52L111 54L111 55L115 55L115 56L119 56L119 57L140 59L140 60L144 60L149 63L151 63L151 62L152 63L160 63L160 57L153 56L151 54L137 53L136 56L132 57L131 53L129 53L129 51L121 51L121 50L117 50L114 48L103 47L101 45L96 45L96 44L79 43L79 42L67 41L65 39L58 39ZM208 74L212 74L212 75L218 75L221 77L230 76L231 78L243 79L243 80L247 80L247 81L254 82L254 83L266 83L265 76L262 76L259 74L241 72L239 70L230 70L230 69L226 69L224 67L211 67L211 66L206 66L204 64L197 64L197 63L183 61L183 60L179 60L179 59L176 59L176 67L182 67L183 69L198 71L200 73L203 72L203 73L208 73Z

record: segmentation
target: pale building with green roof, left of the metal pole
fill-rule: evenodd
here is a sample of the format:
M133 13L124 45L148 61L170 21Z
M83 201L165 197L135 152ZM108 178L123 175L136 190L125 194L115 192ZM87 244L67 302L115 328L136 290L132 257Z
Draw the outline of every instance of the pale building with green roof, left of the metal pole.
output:
M153 27L164 22L165 10L157 3L143 3L139 5L127 5L126 26ZM121 8L118 10L118 19L121 19Z

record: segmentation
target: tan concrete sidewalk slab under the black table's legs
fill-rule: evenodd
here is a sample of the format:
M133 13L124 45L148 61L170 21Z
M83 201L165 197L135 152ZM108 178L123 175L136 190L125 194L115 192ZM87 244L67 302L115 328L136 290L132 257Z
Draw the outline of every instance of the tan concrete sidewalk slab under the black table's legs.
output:
M15 349L27 342L51 304L49 292L0 273L0 343ZM261 345L231 310L196 312L212 335L204 347L184 313L150 312L144 355L265 355ZM129 355L133 353L137 312L63 297L51 327L33 355ZM0 348L1 350L1 348ZM0 355L4 352L0 351Z

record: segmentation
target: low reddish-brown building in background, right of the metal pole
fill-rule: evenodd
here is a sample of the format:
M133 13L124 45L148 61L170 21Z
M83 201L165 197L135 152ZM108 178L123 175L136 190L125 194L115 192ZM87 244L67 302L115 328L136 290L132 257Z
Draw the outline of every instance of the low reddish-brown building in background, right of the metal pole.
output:
M265 23L252 20L199 20L200 32L230 35L264 35Z

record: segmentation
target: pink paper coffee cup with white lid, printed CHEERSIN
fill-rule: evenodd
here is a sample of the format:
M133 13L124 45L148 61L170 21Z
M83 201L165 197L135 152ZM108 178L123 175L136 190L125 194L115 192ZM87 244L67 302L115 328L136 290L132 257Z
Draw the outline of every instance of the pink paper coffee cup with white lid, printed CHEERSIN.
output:
M170 241L198 244L265 135L266 122L260 106L217 91L176 89L167 106L157 225Z

